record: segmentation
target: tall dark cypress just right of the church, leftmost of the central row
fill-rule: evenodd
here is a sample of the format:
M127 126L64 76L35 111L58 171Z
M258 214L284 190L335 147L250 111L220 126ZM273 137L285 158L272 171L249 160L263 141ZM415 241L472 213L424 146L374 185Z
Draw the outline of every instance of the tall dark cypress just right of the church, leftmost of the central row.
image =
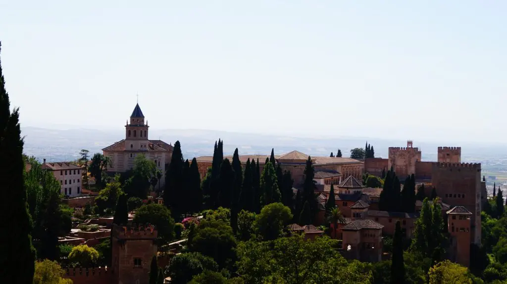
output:
M172 150L171 163L165 176L164 205L171 209L174 217L179 219L183 208L182 197L187 198L184 191L183 169L185 160L183 159L182 147L179 141L174 143Z

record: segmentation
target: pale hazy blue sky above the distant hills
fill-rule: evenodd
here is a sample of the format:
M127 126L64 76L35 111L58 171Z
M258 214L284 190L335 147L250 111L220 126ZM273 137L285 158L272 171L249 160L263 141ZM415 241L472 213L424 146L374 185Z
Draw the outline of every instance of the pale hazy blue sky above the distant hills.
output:
M45 2L51 2L50 4ZM0 0L23 126L503 141L504 1Z

